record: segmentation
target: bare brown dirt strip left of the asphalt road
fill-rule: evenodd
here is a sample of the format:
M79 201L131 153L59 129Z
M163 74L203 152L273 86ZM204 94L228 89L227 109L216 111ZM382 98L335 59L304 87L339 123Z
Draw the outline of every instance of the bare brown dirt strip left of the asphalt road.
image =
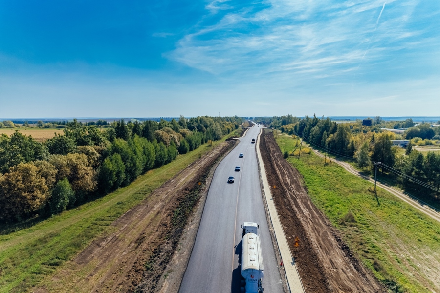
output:
M35 292L158 291L183 228L207 188L207 174L236 142L220 144L156 189L112 224L114 233L94 241L58 272L54 287Z

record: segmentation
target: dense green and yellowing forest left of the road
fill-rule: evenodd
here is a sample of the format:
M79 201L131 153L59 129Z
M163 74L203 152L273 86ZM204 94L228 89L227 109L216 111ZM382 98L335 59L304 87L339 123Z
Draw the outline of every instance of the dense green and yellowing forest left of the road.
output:
M2 134L0 222L50 216L104 196L179 154L220 140L243 122L208 116L110 124L74 120L51 123L63 126L64 134L44 143L18 131Z

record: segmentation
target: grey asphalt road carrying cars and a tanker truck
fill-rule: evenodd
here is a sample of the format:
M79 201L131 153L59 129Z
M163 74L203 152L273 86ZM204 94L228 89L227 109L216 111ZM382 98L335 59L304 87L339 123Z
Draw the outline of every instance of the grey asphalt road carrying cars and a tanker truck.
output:
M284 292L264 211L256 144L251 144L260 128L250 128L214 173L179 293L240 292L240 225L243 222L260 225L264 292ZM241 152L243 158L239 158ZM234 171L236 166L241 167L240 172ZM227 183L229 176L235 177L234 183Z

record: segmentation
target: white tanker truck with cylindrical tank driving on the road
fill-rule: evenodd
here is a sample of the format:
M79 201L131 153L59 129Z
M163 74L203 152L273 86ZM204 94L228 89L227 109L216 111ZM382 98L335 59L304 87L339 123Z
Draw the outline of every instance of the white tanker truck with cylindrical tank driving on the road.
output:
M242 293L263 293L263 256L257 223L242 224Z

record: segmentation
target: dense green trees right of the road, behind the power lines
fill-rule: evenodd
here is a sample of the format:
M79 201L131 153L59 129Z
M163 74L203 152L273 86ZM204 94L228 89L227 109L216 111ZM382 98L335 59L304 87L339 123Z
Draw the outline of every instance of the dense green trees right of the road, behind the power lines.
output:
M255 121L302 137L310 145L337 157L356 160L358 167L364 170L373 170L374 162L381 162L378 167L383 176L395 180L414 195L440 203L440 153L423 155L414 148L417 145L440 147L440 127L427 123L416 125L412 119L385 122L378 116L372 119L372 126L362 126L362 121L337 124L316 115L256 117ZM408 129L399 135L382 128ZM392 144L392 140L399 139L409 140L403 154Z

